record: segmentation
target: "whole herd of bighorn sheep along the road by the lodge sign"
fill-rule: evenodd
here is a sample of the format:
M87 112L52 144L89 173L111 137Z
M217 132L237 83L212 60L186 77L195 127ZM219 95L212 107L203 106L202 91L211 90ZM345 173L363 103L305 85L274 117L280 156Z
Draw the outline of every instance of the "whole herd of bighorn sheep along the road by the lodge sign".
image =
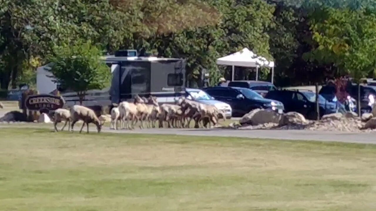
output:
M192 101L186 98L179 98L175 104L162 104L159 105L157 99L153 96L144 98L136 95L133 102L123 101L120 102L118 107L111 110L110 129L118 130L118 121L120 121L120 128L134 129L136 123L140 122L140 128L144 128L146 121L148 128L155 128L158 122L158 127L179 127L189 128L190 123L194 121L194 127L211 127L211 124L216 125L218 119L225 120L226 116L223 112L218 110L213 105L202 104L200 102ZM98 133L100 132L104 120L101 121L97 114L82 105L74 105L70 110L57 109L52 114L52 119L55 122L55 131L58 131L56 125L58 122L65 121L61 130L68 125L68 131L71 129L73 132L74 124L82 120L83 127L87 126L89 133L89 123L97 126Z

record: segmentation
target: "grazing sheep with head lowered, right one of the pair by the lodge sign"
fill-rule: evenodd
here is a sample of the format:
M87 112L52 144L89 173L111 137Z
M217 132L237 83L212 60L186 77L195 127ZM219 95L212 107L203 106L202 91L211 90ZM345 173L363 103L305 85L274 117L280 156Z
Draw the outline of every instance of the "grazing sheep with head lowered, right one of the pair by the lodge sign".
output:
M93 123L97 126L97 131L100 133L100 130L102 129L103 123L99 120L96 113L82 105L73 105L73 107L70 110L71 112L71 118L72 118L72 125L71 125L71 131L73 133L73 127L74 124L76 124L77 121L82 120L83 124L80 130L80 133L82 132L83 126L87 126L87 133L89 133L89 123Z

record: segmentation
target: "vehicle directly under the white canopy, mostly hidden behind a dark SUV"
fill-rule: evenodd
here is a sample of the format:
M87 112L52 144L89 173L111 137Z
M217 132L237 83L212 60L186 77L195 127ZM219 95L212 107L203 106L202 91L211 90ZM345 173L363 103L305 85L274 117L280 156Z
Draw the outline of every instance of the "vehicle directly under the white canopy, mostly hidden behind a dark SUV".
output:
M252 89L262 96L265 96L270 90L277 90L277 87L268 81L230 81L228 86Z

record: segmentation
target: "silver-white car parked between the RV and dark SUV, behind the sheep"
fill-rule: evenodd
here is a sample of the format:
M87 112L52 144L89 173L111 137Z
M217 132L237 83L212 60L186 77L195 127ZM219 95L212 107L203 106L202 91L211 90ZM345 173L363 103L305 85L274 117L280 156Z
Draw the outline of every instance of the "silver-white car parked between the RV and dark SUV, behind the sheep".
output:
M192 89L186 88L186 98L192 99L203 104L214 105L217 109L221 110L227 119L230 119L232 116L232 108L229 104L215 100L214 97L210 96L208 93L204 92L201 89Z

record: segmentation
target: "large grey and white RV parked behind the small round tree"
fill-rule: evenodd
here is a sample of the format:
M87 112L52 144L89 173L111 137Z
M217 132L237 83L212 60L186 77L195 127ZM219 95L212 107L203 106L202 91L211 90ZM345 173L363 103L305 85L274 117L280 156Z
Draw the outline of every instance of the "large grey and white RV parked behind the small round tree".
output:
M158 98L159 103L173 103L185 95L185 60L179 58L139 57L134 54L104 56L102 59L112 73L111 86L89 90L83 100L85 106L106 106L130 101L134 95ZM79 104L76 92L62 90L53 82L48 71L50 64L37 69L36 86L41 94L59 90L68 106Z

